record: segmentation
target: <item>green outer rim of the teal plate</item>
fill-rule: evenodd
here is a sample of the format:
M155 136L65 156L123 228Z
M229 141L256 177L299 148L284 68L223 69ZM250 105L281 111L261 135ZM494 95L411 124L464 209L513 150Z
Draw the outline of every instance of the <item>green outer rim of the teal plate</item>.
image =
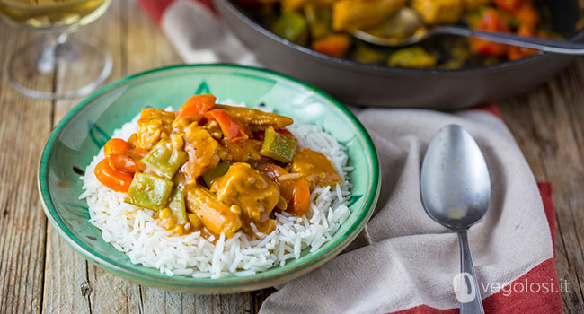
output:
M77 114L80 109L83 109L87 104L89 104L93 99L102 95L103 92L107 92L118 85L123 83L127 83L132 79L137 77L146 76L148 74L155 74L159 72L169 71L173 69L181 69L181 68L233 68L233 69L243 69L246 71L252 72L260 72L263 74L270 74L273 76L278 77L279 79L283 79L284 81L297 83L303 86L305 89L319 94L325 100L328 100L332 105L334 105L333 109L338 109L342 113L344 113L353 125L357 129L357 135L360 137L361 142L366 144L366 156L368 157L368 172L371 175L371 182L369 187L367 188L367 196L365 204L360 208L359 215L355 223L353 223L349 230L345 232L345 236L341 237L341 239L335 240L334 242L327 242L325 247L330 247L331 249L323 250L318 252L317 254L313 254L313 257L305 260L303 264L294 265L294 263L288 263L285 266L276 266L270 270L265 272L261 272L255 275L247 275L247 276L232 276L232 277L223 277L217 279L210 279L210 278L194 278L188 276L169 276L165 275L164 273L155 273L155 274L145 274L136 268L128 267L123 264L120 264L114 260L111 260L109 257L103 256L100 253L94 252L93 249L87 247L83 242L78 240L71 231L68 230L65 223L58 215L55 207L53 206L52 202L50 201L49 195L49 187L48 187L48 178L49 172L47 170L47 164L49 162L49 156L52 151L52 146L55 143L55 140L60 135L61 130L64 126ZM109 270L115 274L124 275L128 278L134 278L140 280L141 282L151 282L155 284L168 284L169 286L173 286L176 288L185 287L185 288L202 288L202 289L217 289L217 288L236 288L242 287L248 284L253 285L261 285L262 283L270 282L271 280L278 280L279 278L285 278L289 275L293 275L296 273L296 270L300 273L306 273L316 266L322 265L328 259L338 255L342 249L345 249L352 240L354 240L358 233L365 227L365 224L373 214L373 210L375 209L375 205L377 202L377 198L379 196L379 186L381 183L381 178L379 176L379 160L376 152L375 145L371 140L371 137L367 133L367 130L358 119L350 112L349 109L346 109L338 100L335 100L322 90L315 88L307 83L302 81L296 80L295 78L289 77L284 74L279 74L277 72L273 72L266 69L261 69L252 66L245 66L245 65L232 65L232 64L208 64L208 65L170 65L165 67L156 68L153 70L148 70L138 74L132 74L125 78L119 79L114 83L110 83L101 89L93 92L90 96L82 100L75 108L71 109L64 118L59 121L58 126L53 129L51 134L49 135L49 139L45 144L45 147L42 150L39 162L39 170L37 176L37 184L39 188L40 194L40 201L43 207L47 218L51 225L58 231L58 234L66 240L66 243L71 246L75 251L81 254L83 257L88 259L89 261L95 263L98 266L102 266L106 270ZM320 250L320 249L319 249ZM302 258L302 257L300 257Z

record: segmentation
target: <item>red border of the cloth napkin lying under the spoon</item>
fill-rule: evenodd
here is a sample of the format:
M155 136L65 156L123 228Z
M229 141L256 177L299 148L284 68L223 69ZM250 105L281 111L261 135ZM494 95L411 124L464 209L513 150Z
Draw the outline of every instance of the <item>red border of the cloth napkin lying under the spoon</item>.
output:
M539 193L544 202L545 217L550 225L553 243L555 243L555 205L553 203L552 184L539 182L537 183L537 188L539 188ZM526 289L527 285L532 285L532 287ZM555 259L550 258L531 268L526 275L522 275L508 287L483 299L482 305L486 313L562 313L560 288ZM459 309L439 310L430 308L427 305L420 305L394 312L394 314L454 314L458 312Z

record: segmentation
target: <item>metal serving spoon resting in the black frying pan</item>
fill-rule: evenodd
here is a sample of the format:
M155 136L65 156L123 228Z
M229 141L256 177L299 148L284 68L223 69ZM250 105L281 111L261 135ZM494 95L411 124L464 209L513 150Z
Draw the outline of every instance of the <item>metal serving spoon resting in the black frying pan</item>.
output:
M410 31L402 36L393 36L394 27L400 23L410 25ZM411 26L416 26L411 29ZM393 17L382 22L375 28L367 30L353 30L352 35L368 43L384 47L410 46L434 35L457 35L465 37L477 37L511 46L533 48L537 50L554 52L565 55L584 55L584 44L568 40L543 39L537 37L525 37L514 34L477 31L462 26L433 26L427 28L420 17L410 8L403 8Z

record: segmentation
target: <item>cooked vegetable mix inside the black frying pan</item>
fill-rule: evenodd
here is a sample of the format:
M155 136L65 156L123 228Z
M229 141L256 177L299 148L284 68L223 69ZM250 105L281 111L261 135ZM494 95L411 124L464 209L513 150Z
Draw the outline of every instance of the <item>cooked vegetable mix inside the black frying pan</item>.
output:
M535 54L483 39L436 36L405 48L380 48L350 33L393 39L421 28L458 24L483 31L555 37L543 5L534 0L235 0L284 39L332 57L410 68L490 65Z

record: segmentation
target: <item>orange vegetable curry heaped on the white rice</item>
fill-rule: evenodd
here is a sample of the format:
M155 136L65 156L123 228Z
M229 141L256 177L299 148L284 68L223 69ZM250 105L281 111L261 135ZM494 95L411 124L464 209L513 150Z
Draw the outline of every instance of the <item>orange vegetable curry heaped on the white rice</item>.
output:
M108 141L94 174L179 235L269 233L274 211L301 216L315 187L341 183L323 153L298 146L293 122L196 95L177 112L143 109L137 133Z

